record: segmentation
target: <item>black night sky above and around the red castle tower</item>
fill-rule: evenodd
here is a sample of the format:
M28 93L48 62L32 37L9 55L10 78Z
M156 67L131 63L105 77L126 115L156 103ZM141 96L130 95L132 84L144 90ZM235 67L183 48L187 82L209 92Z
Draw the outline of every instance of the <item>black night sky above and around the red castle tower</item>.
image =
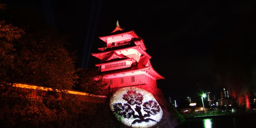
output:
M47 22L60 33L69 34L70 50L76 50L77 67L94 68L100 60L90 53L99 52L116 20L126 30L143 38L153 68L164 80L158 88L166 97L177 100L202 92L220 97L214 87L216 43L231 44L233 36L255 32L255 2L234 1L6 1L7 6L23 15ZM240 38L240 37L239 37ZM243 37L241 37L243 38ZM250 41L250 40L249 40ZM219 45L218 45L219 46ZM199 86L198 86L199 85Z

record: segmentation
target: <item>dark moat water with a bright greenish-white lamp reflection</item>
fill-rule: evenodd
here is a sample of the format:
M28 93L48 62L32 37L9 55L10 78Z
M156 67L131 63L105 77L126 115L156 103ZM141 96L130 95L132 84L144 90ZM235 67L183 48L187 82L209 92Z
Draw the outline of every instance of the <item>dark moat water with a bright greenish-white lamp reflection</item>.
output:
M256 128L256 115L186 119L176 128Z

